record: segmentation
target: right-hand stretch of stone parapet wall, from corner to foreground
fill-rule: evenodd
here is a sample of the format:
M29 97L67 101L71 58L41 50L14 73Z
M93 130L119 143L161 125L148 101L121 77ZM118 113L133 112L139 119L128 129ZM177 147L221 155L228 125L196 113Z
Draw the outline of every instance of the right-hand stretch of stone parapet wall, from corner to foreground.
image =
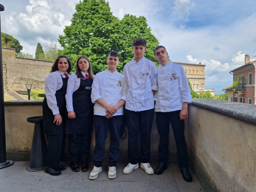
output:
M251 104L192 99L186 140L206 191L256 191L255 111Z

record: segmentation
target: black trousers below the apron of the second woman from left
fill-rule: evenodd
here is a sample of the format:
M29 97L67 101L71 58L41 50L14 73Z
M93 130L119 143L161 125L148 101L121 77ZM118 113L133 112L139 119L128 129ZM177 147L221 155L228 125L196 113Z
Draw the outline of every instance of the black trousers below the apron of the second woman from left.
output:
M91 130L85 133L68 134L68 154L69 161L78 161L78 150L81 148L81 161L88 161L91 143Z

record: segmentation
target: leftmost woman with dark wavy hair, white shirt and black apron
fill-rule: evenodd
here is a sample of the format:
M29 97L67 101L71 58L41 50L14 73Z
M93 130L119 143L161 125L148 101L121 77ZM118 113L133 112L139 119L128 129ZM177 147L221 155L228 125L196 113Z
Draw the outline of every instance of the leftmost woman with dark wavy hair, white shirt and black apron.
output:
M71 62L60 55L45 79L43 100L43 128L48 142L45 172L60 175L67 167L60 163L64 146L64 127L67 110L65 94L71 71Z

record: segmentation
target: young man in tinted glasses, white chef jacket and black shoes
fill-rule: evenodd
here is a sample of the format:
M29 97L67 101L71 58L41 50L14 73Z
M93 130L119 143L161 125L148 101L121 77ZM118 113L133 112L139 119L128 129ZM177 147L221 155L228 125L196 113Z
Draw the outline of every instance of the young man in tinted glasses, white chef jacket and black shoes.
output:
M187 144L184 136L184 119L188 118L188 103L191 103L188 79L182 65L168 60L168 53L164 46L157 46L154 49L154 55L160 64L157 71L158 93L155 104L156 123L160 135L159 164L154 173L162 174L167 168L171 123L182 177L185 181L192 181L188 170Z

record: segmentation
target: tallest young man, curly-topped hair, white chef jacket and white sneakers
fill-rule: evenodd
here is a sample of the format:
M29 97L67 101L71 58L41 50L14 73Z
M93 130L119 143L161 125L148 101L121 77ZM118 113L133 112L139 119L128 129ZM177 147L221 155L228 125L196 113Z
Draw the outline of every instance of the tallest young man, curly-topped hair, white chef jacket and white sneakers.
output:
M155 63L144 57L147 41L136 38L132 42L133 59L124 65L124 77L129 86L125 118L128 129L129 164L123 173L129 174L139 167L138 133L141 133L141 168L147 174L154 174L149 164L150 135L154 117L154 94L157 90L157 68Z

